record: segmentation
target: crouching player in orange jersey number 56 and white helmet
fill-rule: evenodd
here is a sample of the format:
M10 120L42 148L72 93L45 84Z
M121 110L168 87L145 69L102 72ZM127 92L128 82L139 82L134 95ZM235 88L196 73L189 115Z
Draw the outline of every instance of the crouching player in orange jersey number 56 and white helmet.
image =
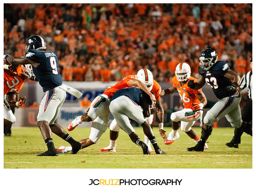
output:
M187 63L178 64L176 66L175 76L172 79L173 86L163 90L161 93L161 95L170 95L177 90L184 105L184 109L171 114L172 131L169 133L167 141L164 142L166 145L172 144L174 140L180 137L178 133L179 121L181 121L181 131L185 131L196 143L200 140L200 137L196 134L196 131L192 129L192 126L195 124L196 120L200 119L202 122L202 109L207 104L207 99L202 88L193 90L188 87L187 83L189 79L196 81L196 79L192 78L190 75L191 69ZM205 144L204 149L207 148L208 146Z

